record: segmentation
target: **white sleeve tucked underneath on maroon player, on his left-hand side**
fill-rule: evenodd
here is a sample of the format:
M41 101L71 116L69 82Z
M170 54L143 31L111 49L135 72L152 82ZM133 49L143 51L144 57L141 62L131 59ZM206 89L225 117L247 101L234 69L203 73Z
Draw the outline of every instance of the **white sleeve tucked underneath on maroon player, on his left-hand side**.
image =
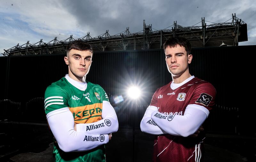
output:
M149 133L152 135L166 134L164 130L159 128L157 124L151 119L151 114L157 111L157 107L149 106L140 122L140 129L142 132Z

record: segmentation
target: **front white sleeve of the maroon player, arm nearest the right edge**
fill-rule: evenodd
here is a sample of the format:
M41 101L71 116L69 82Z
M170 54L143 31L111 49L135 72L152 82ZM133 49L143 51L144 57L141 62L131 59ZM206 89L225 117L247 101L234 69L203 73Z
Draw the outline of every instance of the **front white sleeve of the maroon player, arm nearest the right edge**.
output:
M191 104L186 107L184 115L165 115L155 111L151 118L168 134L187 137L196 132L208 114L205 107Z

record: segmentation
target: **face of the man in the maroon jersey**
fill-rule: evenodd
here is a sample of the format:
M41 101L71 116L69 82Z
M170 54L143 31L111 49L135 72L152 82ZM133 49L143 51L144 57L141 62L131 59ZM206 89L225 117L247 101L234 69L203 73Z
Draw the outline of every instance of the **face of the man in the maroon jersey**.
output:
M167 47L165 49L165 61L169 72L173 77L180 77L182 74L189 74L188 64L191 63L192 55L187 55L184 47Z

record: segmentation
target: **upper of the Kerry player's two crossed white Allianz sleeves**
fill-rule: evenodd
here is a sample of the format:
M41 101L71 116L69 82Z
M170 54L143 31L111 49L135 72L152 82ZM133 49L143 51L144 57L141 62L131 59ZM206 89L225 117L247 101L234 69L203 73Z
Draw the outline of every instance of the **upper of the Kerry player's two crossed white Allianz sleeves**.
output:
M90 134L109 134L117 132L118 120L114 108L108 101L103 101L102 120L93 123L76 124L76 131Z

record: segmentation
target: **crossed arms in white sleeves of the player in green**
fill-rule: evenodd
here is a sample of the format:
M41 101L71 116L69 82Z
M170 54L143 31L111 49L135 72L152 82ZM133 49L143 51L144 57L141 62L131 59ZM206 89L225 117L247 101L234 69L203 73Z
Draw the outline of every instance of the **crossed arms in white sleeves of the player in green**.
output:
M54 110L46 115L47 122L61 150L65 152L87 151L102 144L107 144L108 134L118 130L118 121L114 108L108 101L103 101L102 120L89 124L77 124L74 129L74 117L68 107ZM106 123L109 126L106 125ZM90 125L103 125L88 130Z

